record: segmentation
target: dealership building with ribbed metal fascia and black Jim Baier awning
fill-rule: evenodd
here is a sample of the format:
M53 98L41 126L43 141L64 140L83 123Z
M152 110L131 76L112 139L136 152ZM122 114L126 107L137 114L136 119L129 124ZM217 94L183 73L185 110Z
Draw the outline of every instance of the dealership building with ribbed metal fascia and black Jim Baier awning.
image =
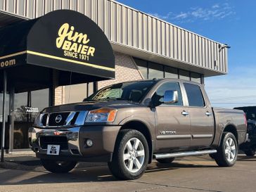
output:
M99 35L80 39L89 42L86 53L91 58L84 64L87 68L79 65L84 61L72 58L77 56L72 55L72 51L63 56L57 51L46 53L49 50L41 44L56 42L47 38L47 35L58 34L58 31L53 32L54 27L47 27L47 22L55 22L50 12L57 10L79 13L74 13L77 18L72 18L73 13L70 13L71 18L69 14L63 16L70 22L75 20L77 26L69 28L74 34L89 34L96 27L91 23L94 21L98 25L96 31L103 31L113 51L107 43L101 50L105 37ZM46 14L51 18L46 18ZM56 16L56 28L65 23L61 23L61 14ZM34 20L39 17L41 19ZM48 34L50 32L52 34ZM60 33L58 35L60 37ZM113 0L0 0L0 40L0 125L3 124L6 71L5 148L8 151L28 148L27 129L36 114L49 105L82 101L97 89L117 82L177 78L203 84L205 77L224 75L228 70L225 44ZM16 63L12 57L16 57ZM19 64L20 60L27 64ZM90 63L94 60L95 63Z

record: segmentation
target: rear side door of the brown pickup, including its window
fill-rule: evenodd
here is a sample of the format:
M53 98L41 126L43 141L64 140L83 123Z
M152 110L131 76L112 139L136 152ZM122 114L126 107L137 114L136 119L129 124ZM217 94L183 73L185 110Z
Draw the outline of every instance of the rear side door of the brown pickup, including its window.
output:
M187 111L191 122L191 147L210 146L215 131L212 108L207 105L203 91L198 84L184 83L188 101ZM207 99L207 98L206 98Z

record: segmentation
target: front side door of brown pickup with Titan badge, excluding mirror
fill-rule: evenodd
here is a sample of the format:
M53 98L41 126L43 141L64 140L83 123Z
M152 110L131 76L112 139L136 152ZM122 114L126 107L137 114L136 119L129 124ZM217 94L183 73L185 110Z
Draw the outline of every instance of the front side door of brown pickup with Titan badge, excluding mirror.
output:
M165 91L178 92L177 103L162 103ZM190 117L186 115L179 82L163 82L152 96L155 107L155 147L157 150L188 148L191 142Z

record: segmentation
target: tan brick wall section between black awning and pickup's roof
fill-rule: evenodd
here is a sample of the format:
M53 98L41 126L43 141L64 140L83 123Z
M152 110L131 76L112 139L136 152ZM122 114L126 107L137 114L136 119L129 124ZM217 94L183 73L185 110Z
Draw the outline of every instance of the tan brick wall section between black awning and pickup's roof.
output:
M131 56L115 52L115 79L98 82L98 89L118 82L143 79Z

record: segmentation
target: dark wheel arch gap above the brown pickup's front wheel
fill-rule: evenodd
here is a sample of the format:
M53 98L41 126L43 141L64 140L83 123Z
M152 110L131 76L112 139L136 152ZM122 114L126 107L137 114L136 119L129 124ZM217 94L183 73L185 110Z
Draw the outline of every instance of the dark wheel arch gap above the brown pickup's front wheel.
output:
M153 159L153 140L152 140L151 132L148 126L145 123L141 122L140 120L130 120L129 122L126 122L125 124L122 125L120 130L123 130L123 129L134 129L134 130L137 130L138 132L141 132L143 136L145 136L148 142L148 150L149 150L148 163L151 163Z

